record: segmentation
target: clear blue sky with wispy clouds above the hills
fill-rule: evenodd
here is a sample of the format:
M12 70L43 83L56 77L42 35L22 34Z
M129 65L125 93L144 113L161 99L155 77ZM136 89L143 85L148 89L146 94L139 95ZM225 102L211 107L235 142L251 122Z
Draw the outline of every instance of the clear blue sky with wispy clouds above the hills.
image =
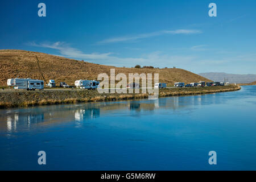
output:
M46 17L38 4L46 3ZM208 5L217 5L209 17ZM256 1L1 1L0 49L134 67L256 74Z

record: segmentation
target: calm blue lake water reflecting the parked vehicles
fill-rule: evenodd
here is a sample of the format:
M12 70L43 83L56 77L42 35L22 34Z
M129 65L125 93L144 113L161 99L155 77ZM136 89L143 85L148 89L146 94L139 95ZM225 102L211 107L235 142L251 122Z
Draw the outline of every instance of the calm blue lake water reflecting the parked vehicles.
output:
M0 169L255 170L256 86L0 110ZM46 165L38 164L46 152ZM209 165L209 151L217 165Z

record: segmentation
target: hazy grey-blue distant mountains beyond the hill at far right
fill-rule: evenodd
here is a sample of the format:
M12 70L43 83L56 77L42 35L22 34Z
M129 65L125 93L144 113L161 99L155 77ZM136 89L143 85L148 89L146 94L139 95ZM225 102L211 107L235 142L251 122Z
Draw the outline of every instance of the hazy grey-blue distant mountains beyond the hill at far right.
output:
M224 78L227 78L230 83L245 84L256 81L256 75L247 74L229 74L229 73L199 73L198 75L208 78L213 81L224 82Z

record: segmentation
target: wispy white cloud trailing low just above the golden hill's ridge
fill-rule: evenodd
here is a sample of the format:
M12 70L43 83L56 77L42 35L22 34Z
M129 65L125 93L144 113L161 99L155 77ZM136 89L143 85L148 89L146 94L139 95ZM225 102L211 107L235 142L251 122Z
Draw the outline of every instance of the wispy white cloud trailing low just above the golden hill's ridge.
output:
M82 59L86 61L92 61L93 63L108 64L115 66L127 66L142 64L142 65L153 65L156 67L166 67L170 64L186 64L189 61L195 59L194 56L179 56L179 55L167 55L160 51L155 51L142 55L140 57L117 57L114 53L84 53L76 48L69 46L64 42L55 43L28 43L30 46L51 48L59 51L59 56L69 57L73 59ZM160 64L161 63L161 64Z

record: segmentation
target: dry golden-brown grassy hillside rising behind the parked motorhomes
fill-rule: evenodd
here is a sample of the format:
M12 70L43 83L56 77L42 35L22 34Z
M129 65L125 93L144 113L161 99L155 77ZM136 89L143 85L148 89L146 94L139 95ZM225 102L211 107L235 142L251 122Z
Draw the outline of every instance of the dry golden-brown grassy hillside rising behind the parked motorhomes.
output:
M38 57L38 60L36 59ZM43 80L54 79L56 85L65 81L74 85L75 80L93 79L97 80L99 73L107 73L110 76L110 68L115 68L118 73L159 73L159 81L173 85L174 82L198 82L210 81L207 78L196 75L179 68L118 68L107 65L93 64L84 61L67 59L65 57L48 55L47 53L22 51L22 50L0 50L0 86L7 86L8 78L35 78ZM43 77L42 77L43 75Z

